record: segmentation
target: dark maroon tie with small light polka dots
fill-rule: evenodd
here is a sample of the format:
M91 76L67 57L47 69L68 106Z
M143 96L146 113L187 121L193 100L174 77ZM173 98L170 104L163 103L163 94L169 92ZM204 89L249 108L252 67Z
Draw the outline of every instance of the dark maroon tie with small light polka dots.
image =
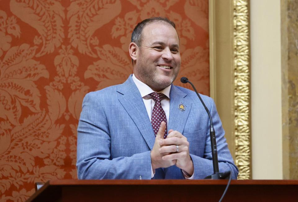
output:
M165 97L163 93L158 92L152 92L149 94L152 99L155 101L155 105L152 110L151 115L151 125L155 134L155 137L157 135L157 132L160 128L160 123L162 121L165 122L165 134L164 139L167 137L168 131L167 131L167 117L165 116L165 111L161 107L161 100Z

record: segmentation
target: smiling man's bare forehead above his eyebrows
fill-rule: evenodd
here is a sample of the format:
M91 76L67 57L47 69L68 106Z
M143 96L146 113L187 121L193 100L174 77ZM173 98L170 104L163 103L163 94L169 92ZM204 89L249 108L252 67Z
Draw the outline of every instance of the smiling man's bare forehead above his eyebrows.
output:
M154 22L146 25L142 31L142 41L147 43L167 41L179 44L175 28L166 22Z

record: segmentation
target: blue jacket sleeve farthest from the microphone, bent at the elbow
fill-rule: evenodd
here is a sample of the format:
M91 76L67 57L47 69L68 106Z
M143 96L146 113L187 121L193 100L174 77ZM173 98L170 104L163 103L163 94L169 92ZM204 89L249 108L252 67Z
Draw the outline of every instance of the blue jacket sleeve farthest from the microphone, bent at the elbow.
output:
M77 171L79 179L151 179L150 150L111 157L111 135L105 106L94 93L83 101L78 125Z

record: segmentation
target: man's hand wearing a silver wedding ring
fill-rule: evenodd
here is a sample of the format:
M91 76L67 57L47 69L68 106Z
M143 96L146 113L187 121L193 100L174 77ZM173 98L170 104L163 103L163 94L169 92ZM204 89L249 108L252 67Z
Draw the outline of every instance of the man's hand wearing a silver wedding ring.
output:
M171 129L169 130L167 138L161 139L159 144L160 153L169 153L162 157L163 160L176 159L177 161L175 165L192 176L194 168L192 159L189 155L189 142L186 137L184 137L180 132Z

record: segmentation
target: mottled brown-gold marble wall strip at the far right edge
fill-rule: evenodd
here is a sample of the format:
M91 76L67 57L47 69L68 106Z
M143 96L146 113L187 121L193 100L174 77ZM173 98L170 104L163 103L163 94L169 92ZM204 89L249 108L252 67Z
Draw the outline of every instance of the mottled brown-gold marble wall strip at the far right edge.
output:
M281 1L283 178L298 179L298 0Z

